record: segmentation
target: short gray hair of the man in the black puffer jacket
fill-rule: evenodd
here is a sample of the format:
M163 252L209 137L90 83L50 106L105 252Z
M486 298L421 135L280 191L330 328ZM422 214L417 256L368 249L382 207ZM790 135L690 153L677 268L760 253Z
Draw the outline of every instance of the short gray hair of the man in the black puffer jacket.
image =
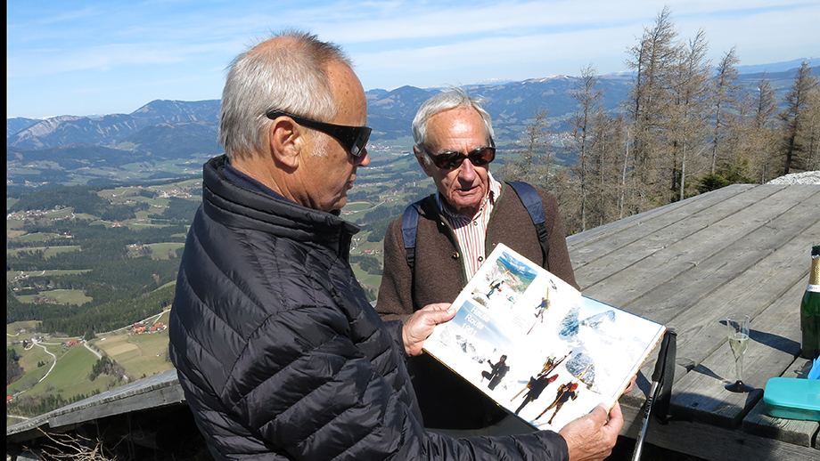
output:
M222 92L219 142L225 155L250 157L266 149L270 109L316 120L334 117L336 102L327 76L333 61L352 67L338 45L294 30L237 56Z

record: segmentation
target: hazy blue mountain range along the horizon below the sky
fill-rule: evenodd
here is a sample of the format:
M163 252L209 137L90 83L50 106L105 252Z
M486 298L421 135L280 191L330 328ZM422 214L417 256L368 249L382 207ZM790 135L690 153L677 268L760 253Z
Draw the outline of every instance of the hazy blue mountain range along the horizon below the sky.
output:
M790 61L767 67L742 68L738 83L757 88L763 77L761 69L795 66L780 72L769 72L778 98L788 91L800 61ZM817 67L813 68L817 75ZM467 85L471 95L479 96L493 118L496 144L509 145L518 139L529 118L547 109L550 128L560 133L567 130L566 119L575 110L571 91L578 77L557 76L534 78L521 82L496 85ZM604 108L615 110L627 98L631 75L599 77L604 94ZM373 126L371 144L383 149L371 149L374 159L382 152L397 154L409 150L410 125L423 101L440 88L423 89L402 86L394 90L366 92L368 125ZM185 165L219 154L217 143L219 101L157 100L145 104L130 114L102 117L60 116L46 119L8 117L6 119L6 163L12 184L26 183L40 187L45 183L66 183L66 172L85 169L86 176L72 182L111 181L118 170L141 172L145 177L161 177L162 162L176 161L176 173L187 171ZM385 148L385 146L389 146ZM398 150L398 152L396 151ZM191 173L195 169L191 170ZM121 173L121 172L119 172ZM149 175L144 175L151 173ZM45 176L44 176L45 174ZM137 174L137 173L135 173ZM63 181L59 181L59 177ZM99 176L102 176L100 178ZM7 183L8 185L8 183Z

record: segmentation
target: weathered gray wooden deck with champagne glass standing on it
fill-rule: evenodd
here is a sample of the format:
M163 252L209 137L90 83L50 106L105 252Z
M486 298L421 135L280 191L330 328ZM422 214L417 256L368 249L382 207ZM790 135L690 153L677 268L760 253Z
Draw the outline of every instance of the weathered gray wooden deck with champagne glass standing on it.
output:
M652 420L648 443L721 461L820 458L820 425L768 417L762 400L770 377L808 374L799 303L818 244L820 185L734 185L568 239L584 295L677 332L677 420ZM746 394L724 389L734 381L724 319L736 311L751 317ZM633 439L656 356L621 399Z

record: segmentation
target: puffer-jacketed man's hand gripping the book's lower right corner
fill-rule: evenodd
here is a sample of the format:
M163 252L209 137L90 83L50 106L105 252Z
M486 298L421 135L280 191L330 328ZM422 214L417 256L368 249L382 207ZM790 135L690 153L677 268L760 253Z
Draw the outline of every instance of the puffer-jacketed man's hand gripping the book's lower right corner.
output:
M586 416L565 425L559 432L570 450L570 461L594 461L608 457L618 441L624 417L618 402L607 420L606 408L598 405Z

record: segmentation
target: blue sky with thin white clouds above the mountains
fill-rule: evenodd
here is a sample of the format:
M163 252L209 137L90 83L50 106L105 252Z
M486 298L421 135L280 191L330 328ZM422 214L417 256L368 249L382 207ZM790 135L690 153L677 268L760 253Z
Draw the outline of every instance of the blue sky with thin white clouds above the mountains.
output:
M340 44L365 90L625 70L664 4L713 61L820 55L808 0L147 0L6 3L9 117L130 113L157 99L218 99L225 67L272 31Z

